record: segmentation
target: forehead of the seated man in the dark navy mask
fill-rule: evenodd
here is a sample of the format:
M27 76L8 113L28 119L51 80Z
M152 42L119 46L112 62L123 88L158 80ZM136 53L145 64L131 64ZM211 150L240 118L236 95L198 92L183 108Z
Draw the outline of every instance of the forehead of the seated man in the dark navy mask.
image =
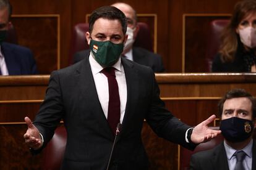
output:
M247 97L227 99L223 104L223 111L227 109L242 109L252 112L252 102Z

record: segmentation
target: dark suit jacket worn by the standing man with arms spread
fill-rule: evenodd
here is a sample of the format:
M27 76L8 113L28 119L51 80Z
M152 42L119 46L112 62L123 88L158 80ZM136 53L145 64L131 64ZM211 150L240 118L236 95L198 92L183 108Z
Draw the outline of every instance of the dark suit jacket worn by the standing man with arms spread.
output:
M126 74L127 103L111 168L148 168L141 139L144 119L158 136L194 149L185 140L189 126L164 107L153 71L127 59L121 62ZM33 122L45 139L43 147L61 119L67 130L62 169L105 170L114 135L101 108L88 57L51 74L45 100Z

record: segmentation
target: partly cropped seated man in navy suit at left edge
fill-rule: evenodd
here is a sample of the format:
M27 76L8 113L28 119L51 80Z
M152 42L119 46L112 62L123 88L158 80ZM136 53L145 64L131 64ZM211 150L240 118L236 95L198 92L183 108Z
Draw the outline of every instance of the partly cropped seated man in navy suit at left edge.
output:
M0 75L35 75L38 74L35 59L30 49L3 42L10 26L11 4L0 0Z

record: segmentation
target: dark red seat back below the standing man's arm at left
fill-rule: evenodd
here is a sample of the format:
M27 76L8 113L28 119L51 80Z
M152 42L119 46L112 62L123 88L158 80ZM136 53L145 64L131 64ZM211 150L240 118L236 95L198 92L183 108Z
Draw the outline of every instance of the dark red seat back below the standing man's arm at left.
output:
M64 156L67 132L64 126L57 127L53 138L43 149L43 160L41 161L41 169L60 169Z

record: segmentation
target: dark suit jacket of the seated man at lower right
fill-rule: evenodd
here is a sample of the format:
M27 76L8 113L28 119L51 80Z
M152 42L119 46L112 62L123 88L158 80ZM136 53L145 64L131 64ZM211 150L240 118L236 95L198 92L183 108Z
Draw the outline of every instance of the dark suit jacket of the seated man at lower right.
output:
M190 169L194 170L229 170L224 143L211 150L195 153L191 156ZM256 169L256 142L252 147L252 169Z

